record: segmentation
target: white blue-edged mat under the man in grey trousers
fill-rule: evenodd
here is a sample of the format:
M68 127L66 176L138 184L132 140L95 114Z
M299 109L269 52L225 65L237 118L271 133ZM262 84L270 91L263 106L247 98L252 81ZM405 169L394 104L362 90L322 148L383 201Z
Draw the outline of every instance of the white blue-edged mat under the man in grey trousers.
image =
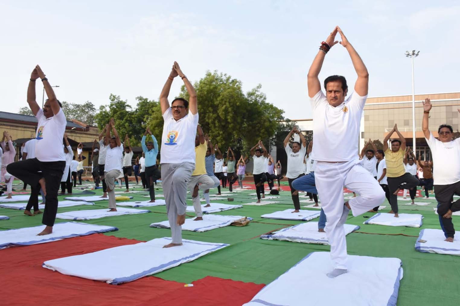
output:
M163 248L171 238L163 237L135 245L121 245L93 253L48 260L43 267L59 273L108 284L131 282L181 263L193 261L227 246L182 239L183 245ZM135 259L135 260L130 260Z

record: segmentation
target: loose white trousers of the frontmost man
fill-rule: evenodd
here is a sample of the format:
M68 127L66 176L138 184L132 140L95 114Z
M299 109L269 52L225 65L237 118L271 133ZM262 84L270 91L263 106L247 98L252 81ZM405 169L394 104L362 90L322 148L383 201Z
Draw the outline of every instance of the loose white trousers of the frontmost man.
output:
M360 160L337 163L318 161L315 168L315 182L318 195L321 196L322 209L328 219L324 230L331 245L334 268L346 269L344 224L349 210L344 206L344 186L359 194L348 201L355 217L382 204L385 200L385 192L372 174L362 167Z

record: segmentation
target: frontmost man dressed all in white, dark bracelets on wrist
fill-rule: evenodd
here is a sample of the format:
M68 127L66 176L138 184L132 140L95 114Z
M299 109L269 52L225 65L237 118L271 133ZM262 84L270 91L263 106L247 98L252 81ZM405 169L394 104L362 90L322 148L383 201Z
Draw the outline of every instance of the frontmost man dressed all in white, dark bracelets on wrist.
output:
M334 41L338 32L342 39L340 44L348 51L358 76L354 93L347 100L345 96L348 86L344 77L333 75L326 78L326 95L322 93L318 79L326 53L338 42ZM380 205L385 199L385 193L373 176L362 167L358 157L359 125L368 95L368 80L368 70L358 53L342 30L335 27L326 41L322 42L307 78L308 95L315 118L313 155L317 161L316 189L328 219L325 231L331 245L331 259L334 261L334 270L327 273L329 278L347 272L344 224L350 207L353 216L359 216ZM360 196L344 204L344 186Z

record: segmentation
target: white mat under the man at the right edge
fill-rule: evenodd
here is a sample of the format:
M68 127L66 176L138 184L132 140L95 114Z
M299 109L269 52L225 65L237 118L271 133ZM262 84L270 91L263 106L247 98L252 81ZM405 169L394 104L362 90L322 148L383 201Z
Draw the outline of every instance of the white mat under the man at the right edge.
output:
M415 242L415 250L425 253L438 253L460 256L460 240L454 242L444 241L446 237L441 229L425 228L420 231L419 238ZM426 242L420 242L426 240Z

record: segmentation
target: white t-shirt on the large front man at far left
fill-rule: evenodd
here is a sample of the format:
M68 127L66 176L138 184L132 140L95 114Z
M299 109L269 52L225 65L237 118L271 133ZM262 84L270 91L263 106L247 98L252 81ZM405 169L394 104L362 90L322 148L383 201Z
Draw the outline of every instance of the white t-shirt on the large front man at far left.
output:
M39 161L65 161L65 153L62 148L65 126L65 119L62 108L57 114L46 118L43 110L37 112L35 116L38 120L38 128L35 134L35 157ZM27 153L29 155L29 153Z

